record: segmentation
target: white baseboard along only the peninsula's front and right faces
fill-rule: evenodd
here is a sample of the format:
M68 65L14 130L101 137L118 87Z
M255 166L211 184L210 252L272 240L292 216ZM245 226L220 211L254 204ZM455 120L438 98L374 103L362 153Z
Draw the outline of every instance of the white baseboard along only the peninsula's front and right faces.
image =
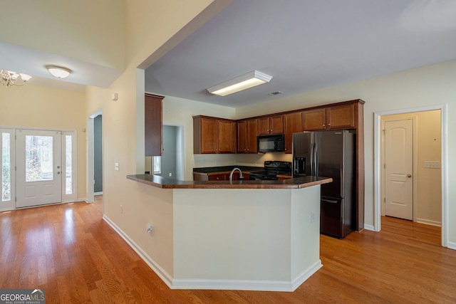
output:
M211 289L211 290L261 290L261 291L294 291L304 281L310 278L318 269L321 261L318 260L303 271L294 281L259 281L259 280L197 280L174 279L172 289Z

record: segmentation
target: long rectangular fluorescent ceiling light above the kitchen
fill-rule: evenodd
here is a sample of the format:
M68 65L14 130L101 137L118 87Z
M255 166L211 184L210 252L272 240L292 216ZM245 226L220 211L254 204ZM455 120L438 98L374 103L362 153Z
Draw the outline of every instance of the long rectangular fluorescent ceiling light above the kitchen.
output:
M215 95L226 96L257 85L262 85L263 83L269 83L271 79L272 76L261 73L258 70L252 70L252 72L240 75L237 78L232 78L219 85L214 85L212 88L208 88L207 91Z

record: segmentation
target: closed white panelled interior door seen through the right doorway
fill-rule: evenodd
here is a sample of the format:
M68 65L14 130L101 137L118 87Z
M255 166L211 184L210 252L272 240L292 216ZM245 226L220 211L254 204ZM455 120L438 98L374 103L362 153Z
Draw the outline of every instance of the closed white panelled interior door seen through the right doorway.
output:
M413 221L413 120L385 122L385 215Z

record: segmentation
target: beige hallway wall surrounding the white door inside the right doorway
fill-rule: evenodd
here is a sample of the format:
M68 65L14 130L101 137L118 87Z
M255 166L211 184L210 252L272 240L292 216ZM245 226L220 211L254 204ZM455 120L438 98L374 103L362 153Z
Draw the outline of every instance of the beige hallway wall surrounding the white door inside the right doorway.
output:
M381 121L383 126L385 121L410 118L413 118L416 124L417 134L414 139L417 141L415 144L418 148L417 159L415 159L417 172L413 174L417 179L416 189L414 189L417 194L416 208L413 217L418 222L440 225L442 221L442 170L424 167L425 161L441 161L440 110L384 115L381 117ZM384 170L382 170L383 173ZM382 198L384 197L383 176ZM383 202L382 214L384 214Z

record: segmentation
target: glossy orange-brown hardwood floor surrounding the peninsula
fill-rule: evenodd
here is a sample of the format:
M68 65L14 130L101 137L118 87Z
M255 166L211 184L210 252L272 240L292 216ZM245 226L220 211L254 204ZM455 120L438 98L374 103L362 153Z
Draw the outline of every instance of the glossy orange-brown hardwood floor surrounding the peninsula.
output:
M46 303L456 303L456 251L440 228L383 218L380 233L321 236L321 268L294 293L170 290L78 202L0 213L0 288L46 289Z

